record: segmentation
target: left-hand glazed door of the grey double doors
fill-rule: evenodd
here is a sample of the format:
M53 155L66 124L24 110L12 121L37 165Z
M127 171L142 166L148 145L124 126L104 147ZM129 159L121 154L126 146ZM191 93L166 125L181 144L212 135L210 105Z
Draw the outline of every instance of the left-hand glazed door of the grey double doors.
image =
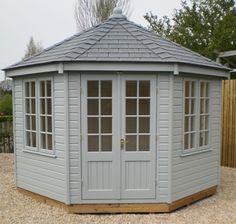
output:
M82 76L82 198L120 198L115 76Z

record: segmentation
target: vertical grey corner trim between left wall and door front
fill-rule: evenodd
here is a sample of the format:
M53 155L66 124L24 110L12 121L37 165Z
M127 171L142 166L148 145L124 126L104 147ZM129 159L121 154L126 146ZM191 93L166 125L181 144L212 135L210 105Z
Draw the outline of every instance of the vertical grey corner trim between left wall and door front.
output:
M69 80L68 73L64 73L64 131L65 131L65 189L66 204L70 204L70 152L69 152Z

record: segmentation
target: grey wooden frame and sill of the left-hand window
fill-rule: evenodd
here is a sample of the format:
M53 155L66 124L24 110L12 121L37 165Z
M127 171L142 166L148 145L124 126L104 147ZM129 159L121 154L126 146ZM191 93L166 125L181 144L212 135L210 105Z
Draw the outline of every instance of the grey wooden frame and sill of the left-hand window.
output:
M26 145L26 83L27 82L35 82L35 105L36 105L36 147L30 147ZM52 149L42 149L40 147L40 141L41 141L41 131L40 131L40 82L41 81L51 81L51 118L52 118ZM23 105L23 116L24 116L24 149L23 151L25 152L30 152L33 154L39 154L39 155L48 155L48 156L53 156L55 155L55 143L54 143L54 138L55 138L55 130L54 130L54 82L53 82L53 77L42 77L42 78L30 78L30 79L25 79L23 80L23 99L24 99L24 105Z

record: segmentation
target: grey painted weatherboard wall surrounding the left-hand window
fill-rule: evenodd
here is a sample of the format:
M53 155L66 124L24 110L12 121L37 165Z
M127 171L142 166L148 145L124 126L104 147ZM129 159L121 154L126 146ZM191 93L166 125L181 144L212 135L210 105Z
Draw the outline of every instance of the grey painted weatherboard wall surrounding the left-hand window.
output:
M42 76L43 78L44 76ZM24 152L24 80L14 78L14 120L17 187L66 202L64 147L64 78L47 74L53 80L54 147L56 158Z

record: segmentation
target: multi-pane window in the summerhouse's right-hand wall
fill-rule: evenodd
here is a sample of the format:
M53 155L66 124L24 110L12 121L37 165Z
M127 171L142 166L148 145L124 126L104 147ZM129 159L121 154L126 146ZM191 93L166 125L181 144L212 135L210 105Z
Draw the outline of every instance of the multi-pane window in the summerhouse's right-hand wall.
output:
M184 82L184 150L209 145L210 87L207 81Z

